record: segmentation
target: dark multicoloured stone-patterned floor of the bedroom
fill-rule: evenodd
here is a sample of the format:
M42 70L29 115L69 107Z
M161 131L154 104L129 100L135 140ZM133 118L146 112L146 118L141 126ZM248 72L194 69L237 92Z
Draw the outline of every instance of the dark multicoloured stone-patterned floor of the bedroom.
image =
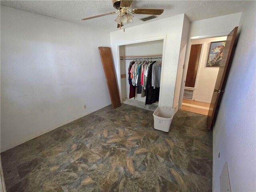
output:
M108 106L3 152L7 191L211 191L206 116L178 111L165 133L152 114Z

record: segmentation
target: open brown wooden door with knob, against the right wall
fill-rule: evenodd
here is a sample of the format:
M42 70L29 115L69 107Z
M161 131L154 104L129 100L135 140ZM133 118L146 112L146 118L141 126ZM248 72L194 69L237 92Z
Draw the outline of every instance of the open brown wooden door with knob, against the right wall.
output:
M227 40L226 40L226 45L223 50L223 56L222 60L220 63L220 69L218 72L216 84L214 87L214 92L212 95L212 101L210 104L210 109L208 112L208 117L207 117L207 126L208 129L210 129L216 119L217 113L218 113L218 108L220 106L221 98L224 93L224 88L225 84L228 78L228 68L230 68L230 55L234 46L234 41L236 38L236 32L237 32L238 27L235 27L230 34L228 34Z

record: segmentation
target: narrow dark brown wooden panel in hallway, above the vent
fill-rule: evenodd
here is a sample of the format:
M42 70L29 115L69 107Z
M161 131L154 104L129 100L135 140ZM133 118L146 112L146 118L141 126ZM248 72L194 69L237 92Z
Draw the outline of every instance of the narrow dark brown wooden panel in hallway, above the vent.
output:
M185 87L195 87L201 49L202 44L196 44L191 46Z

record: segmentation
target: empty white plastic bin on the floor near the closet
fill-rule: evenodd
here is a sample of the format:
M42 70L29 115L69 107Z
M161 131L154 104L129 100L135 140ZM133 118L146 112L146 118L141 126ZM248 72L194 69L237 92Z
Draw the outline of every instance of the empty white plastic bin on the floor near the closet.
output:
M164 132L169 132L173 115L174 115L173 108L167 109L163 107L157 107L155 112L153 113L154 128Z

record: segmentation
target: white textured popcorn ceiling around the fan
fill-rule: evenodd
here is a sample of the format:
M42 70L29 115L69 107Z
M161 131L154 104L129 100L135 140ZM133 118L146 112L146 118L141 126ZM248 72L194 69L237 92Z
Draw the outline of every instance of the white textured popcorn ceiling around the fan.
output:
M172 1L172 0L139 0L132 3L131 8L162 8L164 13L158 18L146 22L152 22L159 19L185 13L189 20L197 21L217 16L228 15L242 12L247 1L215 1L215 0L189 0L189 1ZM67 22L72 22L92 28L98 28L104 31L115 31L117 24L114 21L116 15L108 15L91 20L81 21L82 18L116 11L113 8L111 0L81 0L81 1L23 1L23 0L1 0L2 6L11 7L34 14L39 14ZM149 15L134 14L132 23L125 27L140 25L140 18Z

